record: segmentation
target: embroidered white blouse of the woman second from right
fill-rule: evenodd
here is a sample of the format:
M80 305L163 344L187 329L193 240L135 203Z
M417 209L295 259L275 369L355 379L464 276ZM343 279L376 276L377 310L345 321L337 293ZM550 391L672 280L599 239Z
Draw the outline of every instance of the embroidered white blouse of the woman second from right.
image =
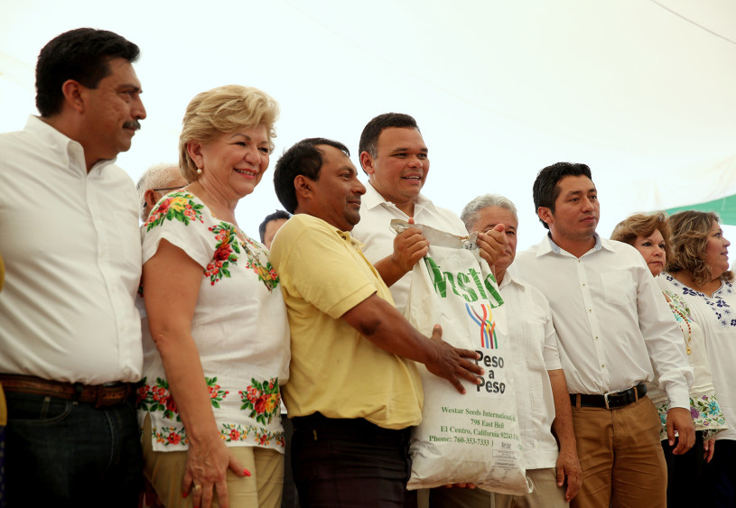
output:
M707 323L705 323L706 326L703 326L702 319L697 319L691 306L685 300L684 291L692 290L675 281L667 272L657 277L657 284L683 332L685 340L683 346L694 372L694 383L690 389L690 414L693 417L695 430L703 430L703 437L707 439L712 437L716 431L726 428L723 411L715 396L717 391L713 388L713 375L707 351L709 346L706 343ZM656 388L652 386L650 388L650 397L657 406L659 418L662 420L660 439L666 439L666 417L669 403Z

